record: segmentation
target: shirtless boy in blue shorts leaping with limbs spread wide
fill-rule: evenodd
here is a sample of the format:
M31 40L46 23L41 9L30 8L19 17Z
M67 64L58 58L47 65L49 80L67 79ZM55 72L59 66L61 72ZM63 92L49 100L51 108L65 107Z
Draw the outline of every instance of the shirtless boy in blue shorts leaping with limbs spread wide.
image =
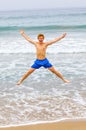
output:
M53 65L49 62L49 60L46 58L46 49L48 46L60 41L66 36L66 33L61 35L60 37L55 38L54 40L51 40L49 42L44 42L44 35L39 34L38 35L38 42L33 41L30 37L28 37L23 30L20 31L20 34L30 43L32 43L36 48L36 56L37 59L35 60L34 64L31 66L31 68L24 74L24 76L18 81L17 85L20 85L31 73L33 73L36 69L39 69L40 67L47 68L52 73L54 73L56 76L58 76L60 79L62 79L65 83L69 83L69 80L66 80L62 74L57 71Z

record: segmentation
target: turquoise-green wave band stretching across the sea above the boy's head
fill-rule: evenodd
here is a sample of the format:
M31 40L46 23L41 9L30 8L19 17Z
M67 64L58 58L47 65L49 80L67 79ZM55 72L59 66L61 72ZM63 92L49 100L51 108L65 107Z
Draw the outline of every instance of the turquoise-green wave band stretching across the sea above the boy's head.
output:
M86 30L86 25L44 25L44 26L3 26L0 27L0 31L16 31L20 29L25 30Z

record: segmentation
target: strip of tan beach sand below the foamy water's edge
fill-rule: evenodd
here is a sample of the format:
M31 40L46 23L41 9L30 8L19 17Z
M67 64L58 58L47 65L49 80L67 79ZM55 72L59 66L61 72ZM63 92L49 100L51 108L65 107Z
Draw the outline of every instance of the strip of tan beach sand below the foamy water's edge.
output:
M0 130L86 130L86 120L66 120L55 123L0 128Z

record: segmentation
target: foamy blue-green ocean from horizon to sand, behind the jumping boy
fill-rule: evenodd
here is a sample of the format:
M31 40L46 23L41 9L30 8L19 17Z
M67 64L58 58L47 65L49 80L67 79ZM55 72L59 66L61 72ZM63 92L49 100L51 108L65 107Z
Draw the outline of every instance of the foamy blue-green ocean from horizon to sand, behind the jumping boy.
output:
M18 80L36 59L34 40L67 36L49 46L47 58L71 82L40 68ZM0 127L86 118L86 9L0 11Z

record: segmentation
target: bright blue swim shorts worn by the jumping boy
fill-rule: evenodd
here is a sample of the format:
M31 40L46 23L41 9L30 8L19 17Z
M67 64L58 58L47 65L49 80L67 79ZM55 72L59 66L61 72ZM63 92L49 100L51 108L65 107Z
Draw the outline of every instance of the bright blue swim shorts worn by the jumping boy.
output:
M34 61L34 64L31 66L31 68L34 68L34 69L39 69L40 67L50 68L52 67L52 64L49 63L47 58L45 58L43 60L36 59Z

